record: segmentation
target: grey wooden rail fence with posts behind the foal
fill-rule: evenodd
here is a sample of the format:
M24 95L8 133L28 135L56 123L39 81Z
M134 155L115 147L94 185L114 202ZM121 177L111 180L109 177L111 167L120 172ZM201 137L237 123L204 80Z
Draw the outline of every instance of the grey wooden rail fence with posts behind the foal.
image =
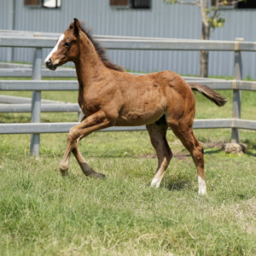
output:
M0 47L34 48L32 68L0 68L0 77L27 77L32 80L0 80L0 90L32 90L32 100L0 97L0 113L31 112L32 123L0 124L0 134L31 133L31 154L39 154L40 133L67 132L78 123L40 123L41 112L79 112L78 104L41 100L43 90L78 90L77 81L41 80L44 77L74 77L73 69L52 72L42 67L42 49L55 46L57 35L50 33L0 31ZM198 79L184 77L189 83L207 84L214 90L233 90L230 119L195 119L195 129L231 128L231 143L239 143L239 129L256 130L256 120L241 119L241 90L256 90L256 82L242 81L242 51L256 51L256 43L236 41L186 40L167 38L127 38L95 36L107 49L143 50L219 50L234 51L234 79ZM21 102L19 102L19 101ZM6 104L15 102L15 104ZM140 131L145 126L110 127L102 131Z

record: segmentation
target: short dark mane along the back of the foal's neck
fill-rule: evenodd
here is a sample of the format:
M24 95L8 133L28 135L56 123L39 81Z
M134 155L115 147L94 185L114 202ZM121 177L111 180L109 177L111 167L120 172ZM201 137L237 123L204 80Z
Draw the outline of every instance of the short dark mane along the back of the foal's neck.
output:
M120 66L112 63L111 61L108 61L108 56L106 54L106 50L104 48L102 48L102 46L92 38L90 30L87 27L85 27L82 22L80 23L80 27L81 27L81 30L84 32L84 34L87 36L87 38L89 38L90 42L95 47L96 52L101 57L101 60L104 63L104 65L113 70L125 72L124 67L120 67Z

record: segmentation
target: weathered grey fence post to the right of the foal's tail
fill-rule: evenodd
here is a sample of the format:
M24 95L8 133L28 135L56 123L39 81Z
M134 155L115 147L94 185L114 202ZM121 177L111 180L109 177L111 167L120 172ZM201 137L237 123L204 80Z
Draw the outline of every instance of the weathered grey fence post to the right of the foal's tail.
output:
M238 45L239 42L243 41L243 38L236 38ZM235 50L235 65L234 65L234 79L242 79L242 59L241 51L236 47ZM241 119L241 90L233 90L233 110L232 110L233 119ZM239 129L232 128L231 134L231 143L240 143L239 139Z

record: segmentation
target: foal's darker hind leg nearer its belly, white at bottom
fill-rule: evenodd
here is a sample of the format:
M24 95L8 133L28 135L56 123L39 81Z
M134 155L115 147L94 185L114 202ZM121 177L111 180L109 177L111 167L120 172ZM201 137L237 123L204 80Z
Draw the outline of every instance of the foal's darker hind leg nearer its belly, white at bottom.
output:
M152 145L158 158L158 167L155 172L151 186L159 188L162 178L165 175L167 166L172 159L172 151L166 141L167 124L165 119L160 119L152 125L146 125Z

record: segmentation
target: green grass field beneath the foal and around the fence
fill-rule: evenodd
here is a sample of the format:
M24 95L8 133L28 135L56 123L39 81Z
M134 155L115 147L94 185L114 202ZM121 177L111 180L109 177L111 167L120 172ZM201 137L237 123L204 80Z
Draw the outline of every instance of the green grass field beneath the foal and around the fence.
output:
M224 108L196 94L197 119L231 117L232 95L221 93L230 98ZM77 93L42 98L76 102ZM255 93L242 92L242 118L255 113ZM76 113L42 114L42 122L76 120ZM0 116L29 121L25 113ZM1 136L0 254L256 255L256 132L241 131L241 156L221 150L230 129L195 134L205 146L207 196L197 195L195 166L172 131L175 157L160 189L150 187L157 160L146 131L96 132L80 143L104 180L84 177L73 157L61 177L65 134L42 135L38 159L29 156L29 135Z

